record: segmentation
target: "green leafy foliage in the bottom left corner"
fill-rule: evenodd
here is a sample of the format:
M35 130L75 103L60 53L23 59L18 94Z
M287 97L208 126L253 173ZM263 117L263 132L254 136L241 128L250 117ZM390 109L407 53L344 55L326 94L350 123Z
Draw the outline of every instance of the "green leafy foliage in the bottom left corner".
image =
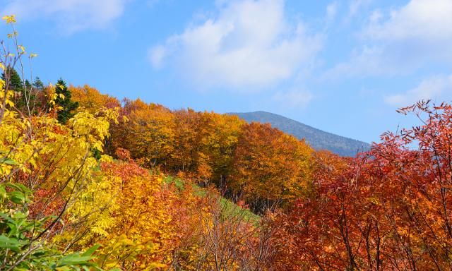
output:
M0 184L0 270L100 270L92 263L98 246L62 255L40 241L50 217L30 219L31 196L21 184Z

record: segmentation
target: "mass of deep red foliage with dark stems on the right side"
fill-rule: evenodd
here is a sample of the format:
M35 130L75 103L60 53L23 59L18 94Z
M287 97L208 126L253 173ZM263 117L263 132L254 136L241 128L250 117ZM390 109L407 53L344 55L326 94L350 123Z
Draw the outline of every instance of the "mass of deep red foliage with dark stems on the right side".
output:
M317 156L311 196L275 219L278 270L451 270L452 107L400 112L423 125L356 159Z

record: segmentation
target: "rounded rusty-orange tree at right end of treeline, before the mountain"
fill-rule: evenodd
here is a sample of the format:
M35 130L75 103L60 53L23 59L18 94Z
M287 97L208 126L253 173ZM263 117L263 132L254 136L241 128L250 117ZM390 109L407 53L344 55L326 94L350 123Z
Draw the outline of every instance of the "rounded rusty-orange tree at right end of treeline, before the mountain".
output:
M256 212L299 198L311 180L311 147L270 124L245 124L230 186Z

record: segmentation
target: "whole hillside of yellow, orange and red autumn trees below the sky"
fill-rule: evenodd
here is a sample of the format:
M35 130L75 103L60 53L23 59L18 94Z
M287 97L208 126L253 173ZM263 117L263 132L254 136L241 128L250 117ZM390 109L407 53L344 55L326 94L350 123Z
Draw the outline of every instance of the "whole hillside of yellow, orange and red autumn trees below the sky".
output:
M450 270L451 104L400 109L419 126L340 157L229 114L44 85L4 20L0 270Z

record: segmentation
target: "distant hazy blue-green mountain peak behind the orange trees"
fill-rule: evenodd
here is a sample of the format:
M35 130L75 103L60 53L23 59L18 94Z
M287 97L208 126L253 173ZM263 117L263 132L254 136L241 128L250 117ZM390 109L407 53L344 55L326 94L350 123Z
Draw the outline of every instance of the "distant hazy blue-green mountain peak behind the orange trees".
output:
M369 143L321 131L278 114L263 111L228 114L237 115L247 122L255 121L262 124L271 124L272 127L294 135L299 139L306 138L307 143L316 150L329 150L341 156L355 156L357 152L369 150L370 148Z

